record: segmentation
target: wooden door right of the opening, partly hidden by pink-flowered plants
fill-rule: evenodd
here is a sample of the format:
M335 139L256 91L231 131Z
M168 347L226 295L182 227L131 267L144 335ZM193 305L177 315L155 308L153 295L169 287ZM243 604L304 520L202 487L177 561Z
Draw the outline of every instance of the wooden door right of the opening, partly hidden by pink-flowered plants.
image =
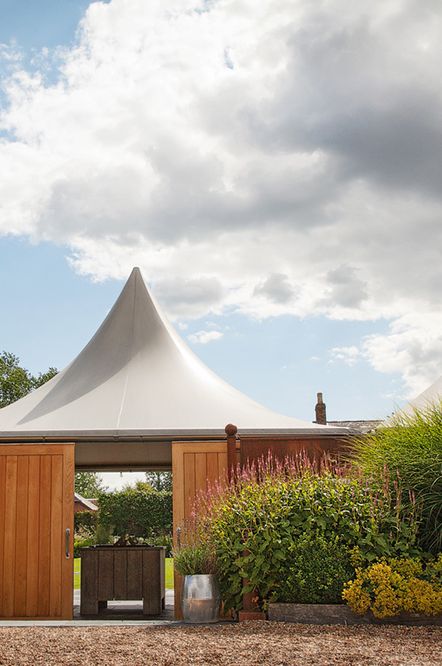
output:
M191 517L198 491L227 477L227 442L172 442L173 534ZM181 618L182 578L175 572L175 617Z

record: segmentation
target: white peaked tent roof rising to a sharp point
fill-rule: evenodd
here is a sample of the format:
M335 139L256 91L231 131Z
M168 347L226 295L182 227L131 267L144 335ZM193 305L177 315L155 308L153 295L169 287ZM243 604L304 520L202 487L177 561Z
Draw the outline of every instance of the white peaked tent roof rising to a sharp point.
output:
M176 439L240 433L345 434L277 414L207 368L134 268L114 307L56 377L0 410L0 437Z

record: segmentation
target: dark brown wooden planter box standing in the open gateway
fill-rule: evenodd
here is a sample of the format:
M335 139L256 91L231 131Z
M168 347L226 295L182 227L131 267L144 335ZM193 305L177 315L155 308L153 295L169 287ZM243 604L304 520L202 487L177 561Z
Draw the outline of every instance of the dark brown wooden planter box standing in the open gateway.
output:
M92 546L80 550L81 615L98 615L111 600L143 600L143 615L165 605L163 547Z

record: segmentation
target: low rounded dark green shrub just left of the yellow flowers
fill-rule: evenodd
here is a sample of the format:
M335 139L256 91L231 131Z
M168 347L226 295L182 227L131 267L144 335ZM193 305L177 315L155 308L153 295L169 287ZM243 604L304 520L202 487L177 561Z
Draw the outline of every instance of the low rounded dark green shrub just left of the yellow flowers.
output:
M348 548L336 535L304 534L289 545L286 575L275 596L297 604L338 604L344 584L353 576Z

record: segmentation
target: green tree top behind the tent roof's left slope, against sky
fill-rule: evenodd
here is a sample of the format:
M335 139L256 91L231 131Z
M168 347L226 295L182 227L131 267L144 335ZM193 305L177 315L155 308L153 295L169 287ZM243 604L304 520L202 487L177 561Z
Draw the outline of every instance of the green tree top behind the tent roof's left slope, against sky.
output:
M57 374L56 368L37 376L20 366L20 359L9 352L0 354L0 408L23 398Z

